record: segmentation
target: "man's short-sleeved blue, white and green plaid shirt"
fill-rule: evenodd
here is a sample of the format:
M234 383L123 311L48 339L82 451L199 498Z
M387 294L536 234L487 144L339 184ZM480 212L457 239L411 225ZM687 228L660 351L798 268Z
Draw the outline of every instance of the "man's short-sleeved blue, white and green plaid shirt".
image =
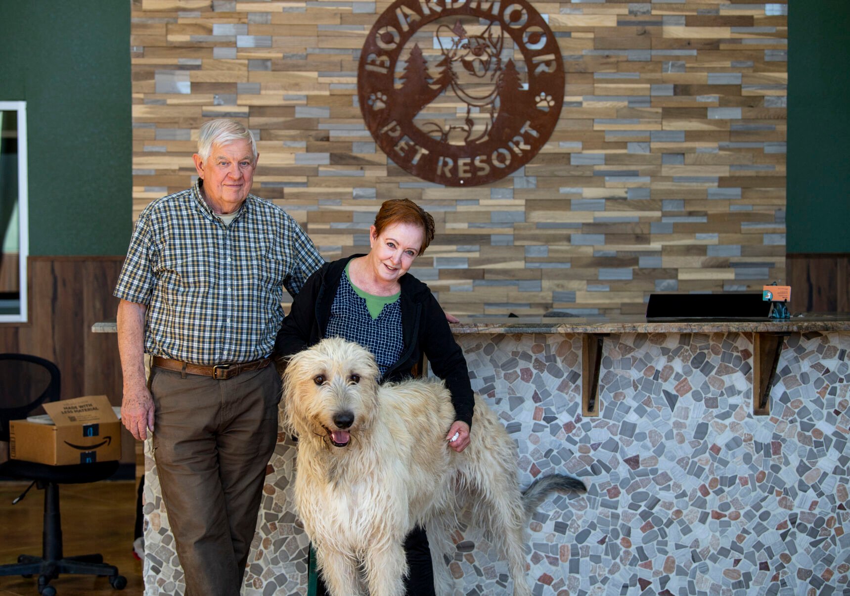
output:
M144 351L191 364L271 354L293 296L324 262L283 209L248 195L229 226L200 181L139 215L115 296L147 307Z

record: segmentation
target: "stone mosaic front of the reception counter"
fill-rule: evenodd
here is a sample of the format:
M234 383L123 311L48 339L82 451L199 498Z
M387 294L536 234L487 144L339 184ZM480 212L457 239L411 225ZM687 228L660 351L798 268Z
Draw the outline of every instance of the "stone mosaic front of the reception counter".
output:
M612 334L599 417L581 416L581 335L456 337L473 389L518 441L521 485L556 470L591 485L532 519L536 595L850 590L850 333L785 338L766 417L752 415L750 332ZM245 594L305 593L293 455L281 434ZM145 593L182 593L150 457L146 470ZM510 593L485 536L464 525L455 540L455 594Z

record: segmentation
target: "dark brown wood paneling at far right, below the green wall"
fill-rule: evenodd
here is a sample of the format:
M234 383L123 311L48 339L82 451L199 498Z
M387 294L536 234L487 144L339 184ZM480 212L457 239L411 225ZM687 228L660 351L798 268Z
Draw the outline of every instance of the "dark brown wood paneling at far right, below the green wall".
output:
M789 254L791 312L850 312L850 254Z

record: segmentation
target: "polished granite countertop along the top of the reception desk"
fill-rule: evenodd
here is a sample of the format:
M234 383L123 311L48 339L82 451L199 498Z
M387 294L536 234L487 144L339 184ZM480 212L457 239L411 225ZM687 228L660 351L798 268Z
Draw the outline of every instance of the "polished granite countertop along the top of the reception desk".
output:
M95 333L117 332L115 320L94 323ZM647 319L646 317L471 317L451 326L454 333L713 333L850 331L850 314L803 314L771 319Z

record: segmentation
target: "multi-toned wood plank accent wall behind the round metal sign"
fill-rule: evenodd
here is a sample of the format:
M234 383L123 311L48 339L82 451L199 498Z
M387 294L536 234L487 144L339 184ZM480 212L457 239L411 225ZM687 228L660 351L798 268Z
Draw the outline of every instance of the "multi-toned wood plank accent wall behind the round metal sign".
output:
M365 129L360 47L388 6L133 0L134 217L191 184L197 129L227 116L258 133L255 194L328 259L367 249L382 201L420 202L438 234L413 272L456 315L634 314L651 292L784 281L784 0L535 3L564 57L558 128L462 190Z

